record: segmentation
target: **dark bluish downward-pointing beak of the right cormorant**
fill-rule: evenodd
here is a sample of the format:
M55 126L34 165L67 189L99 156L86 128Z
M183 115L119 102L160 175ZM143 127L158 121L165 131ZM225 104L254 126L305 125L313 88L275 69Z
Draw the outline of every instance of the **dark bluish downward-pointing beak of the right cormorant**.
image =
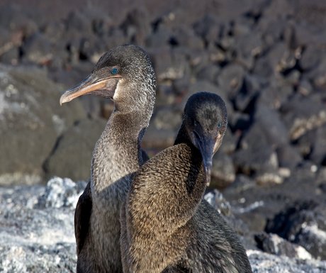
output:
M208 186L210 184L210 177L212 174L212 159L215 139L206 137L205 135L200 137L197 133L195 135L197 139L197 146L199 147L201 156L203 157L203 165L206 173L206 184Z

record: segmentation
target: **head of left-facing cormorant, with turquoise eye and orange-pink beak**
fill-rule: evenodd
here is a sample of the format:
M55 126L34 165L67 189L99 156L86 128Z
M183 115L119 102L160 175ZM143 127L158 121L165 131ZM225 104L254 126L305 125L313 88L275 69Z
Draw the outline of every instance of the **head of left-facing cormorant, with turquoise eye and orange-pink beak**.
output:
M104 53L84 81L64 92L60 104L87 94L123 101L130 107L142 107L142 101L149 100L154 105L155 74L147 53L135 45L121 45Z

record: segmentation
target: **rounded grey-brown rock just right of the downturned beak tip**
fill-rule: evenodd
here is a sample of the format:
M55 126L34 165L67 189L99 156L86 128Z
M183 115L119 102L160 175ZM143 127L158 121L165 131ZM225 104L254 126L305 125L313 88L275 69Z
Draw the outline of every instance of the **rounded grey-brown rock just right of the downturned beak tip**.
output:
M235 167L232 159L217 152L213 157L212 181L210 186L213 188L223 189L235 181Z

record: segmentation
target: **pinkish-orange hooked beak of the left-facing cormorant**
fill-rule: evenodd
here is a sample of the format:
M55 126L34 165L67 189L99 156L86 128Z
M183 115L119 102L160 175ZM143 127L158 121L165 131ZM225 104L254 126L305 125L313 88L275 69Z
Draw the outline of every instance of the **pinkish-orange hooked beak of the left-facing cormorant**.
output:
M111 75L106 78L96 77L94 74L90 74L84 81L78 84L76 87L64 92L60 98L60 105L76 99L78 96L95 94L104 96L105 98L112 99L114 91L118 84L118 80L122 77L119 74Z

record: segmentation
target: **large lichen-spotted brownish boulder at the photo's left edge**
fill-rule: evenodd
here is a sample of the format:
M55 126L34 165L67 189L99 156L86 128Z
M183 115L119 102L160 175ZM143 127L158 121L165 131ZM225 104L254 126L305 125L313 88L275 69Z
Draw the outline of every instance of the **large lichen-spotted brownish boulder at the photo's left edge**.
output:
M57 137L85 116L79 101L60 107L60 85L32 67L0 67L0 184L40 182ZM37 140L37 141L36 141Z

